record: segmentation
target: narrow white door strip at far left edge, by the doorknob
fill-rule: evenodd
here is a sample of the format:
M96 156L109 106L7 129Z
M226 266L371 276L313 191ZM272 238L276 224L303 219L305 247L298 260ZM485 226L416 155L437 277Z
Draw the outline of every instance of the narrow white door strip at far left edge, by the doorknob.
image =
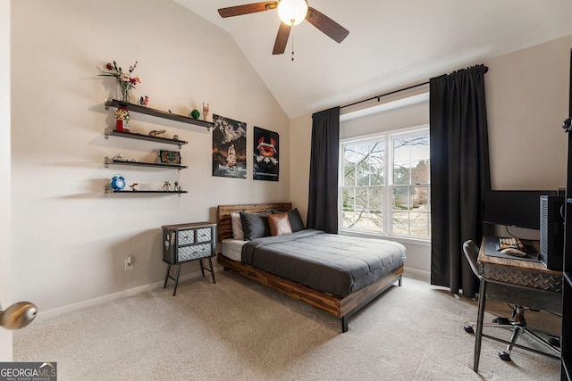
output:
M0 1L0 310L12 302L10 207L10 2ZM12 333L0 328L0 361L12 361Z

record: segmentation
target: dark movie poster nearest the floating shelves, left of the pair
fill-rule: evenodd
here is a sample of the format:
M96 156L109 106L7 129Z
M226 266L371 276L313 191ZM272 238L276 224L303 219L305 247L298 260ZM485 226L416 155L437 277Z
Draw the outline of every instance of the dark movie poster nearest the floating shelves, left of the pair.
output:
M213 176L247 178L247 124L213 115Z

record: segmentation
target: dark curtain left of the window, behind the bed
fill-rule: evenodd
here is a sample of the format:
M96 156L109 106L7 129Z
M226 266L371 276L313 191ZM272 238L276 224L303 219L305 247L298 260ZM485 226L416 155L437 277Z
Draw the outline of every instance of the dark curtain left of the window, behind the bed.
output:
M340 107L312 115L307 228L338 234Z

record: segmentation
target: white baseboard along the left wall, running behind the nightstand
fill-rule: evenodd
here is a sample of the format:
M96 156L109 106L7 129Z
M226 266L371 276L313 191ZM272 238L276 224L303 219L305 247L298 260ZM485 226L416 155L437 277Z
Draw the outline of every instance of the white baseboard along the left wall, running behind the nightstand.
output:
M202 277L200 271L192 272L192 273L186 274L186 275L181 275L181 277L179 277L179 282L181 283L181 282L184 282L184 281L189 280L189 279L194 279L196 277ZM68 312L72 312L72 311L78 311L78 310L81 310L81 309L84 309L87 307L94 307L94 306L97 306L97 305L105 303L105 302L114 301L114 300L121 299L124 297L132 296L135 294L145 293L147 291L154 290L154 289L159 288L159 287L163 287L163 285L164 285L164 280L161 280L161 281L151 283L148 285L130 288L129 290L123 290L123 291L120 291L118 293L98 296L97 298L88 299L87 301L72 303L72 304L65 305L63 307L57 307L57 308L52 309L52 310L38 311L38 316L36 317L36 319L53 318L55 316L59 316L59 315L62 315L64 313L68 313ZM167 284L167 287L169 287L169 286L174 286L174 285L172 282L170 282Z

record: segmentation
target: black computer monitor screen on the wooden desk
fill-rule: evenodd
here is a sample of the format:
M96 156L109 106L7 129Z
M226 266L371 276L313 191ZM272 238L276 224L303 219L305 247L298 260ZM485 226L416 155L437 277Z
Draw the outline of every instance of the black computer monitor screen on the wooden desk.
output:
M541 195L556 195L556 191L486 191L483 204L484 222L539 230Z

